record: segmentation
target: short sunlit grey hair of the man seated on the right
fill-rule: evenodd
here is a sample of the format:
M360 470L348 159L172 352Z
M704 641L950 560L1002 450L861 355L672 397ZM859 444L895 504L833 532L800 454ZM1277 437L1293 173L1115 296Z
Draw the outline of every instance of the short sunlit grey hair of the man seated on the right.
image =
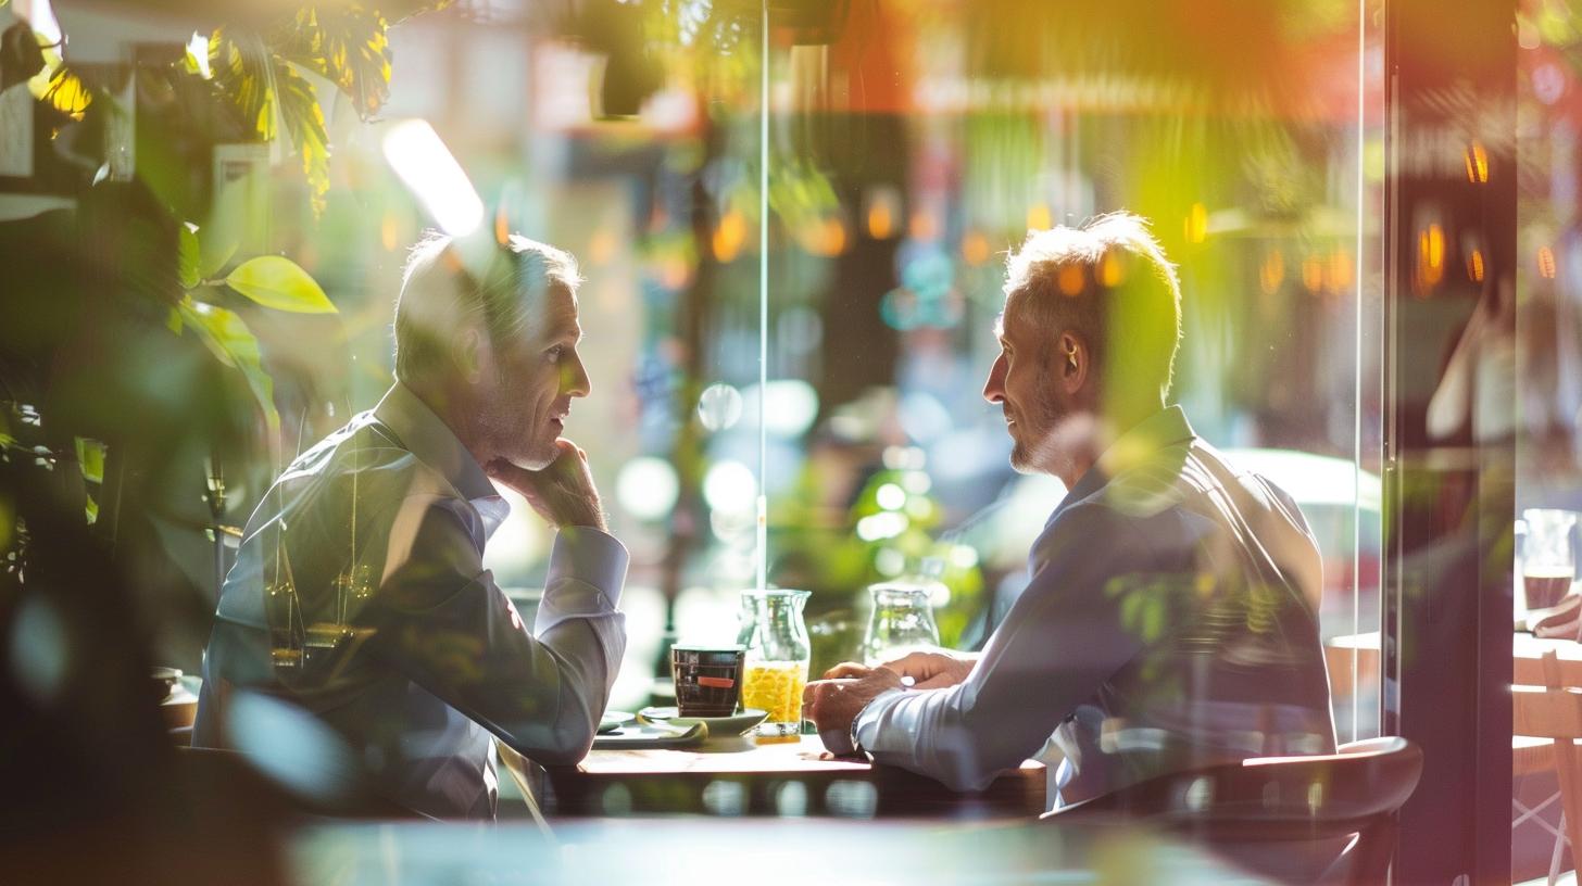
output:
M1006 258L1006 310L1033 321L1054 345L1065 331L1093 350L1107 394L1169 396L1182 337L1175 266L1130 212L1098 215L1077 228L1030 231Z

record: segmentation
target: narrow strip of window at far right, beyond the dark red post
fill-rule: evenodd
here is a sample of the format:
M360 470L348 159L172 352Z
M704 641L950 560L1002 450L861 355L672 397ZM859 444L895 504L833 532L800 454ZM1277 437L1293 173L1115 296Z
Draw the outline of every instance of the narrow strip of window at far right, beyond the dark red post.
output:
M1579 636L1569 603L1552 608L1576 593L1574 521L1582 509L1576 114L1582 33L1565 3L1520 3L1517 43L1514 606L1517 627L1536 634L1516 634L1514 676L1520 685L1542 682L1538 657L1554 650L1565 660ZM1470 163L1470 174L1476 174L1476 157ZM1568 671L1563 677L1566 685L1576 685ZM1523 720L1519 707L1517 731ZM1557 837L1558 777L1547 758L1533 756L1542 755L1535 750L1542 745L1544 739L1522 734L1512 740L1514 881L1576 867L1571 853L1563 851L1565 840Z

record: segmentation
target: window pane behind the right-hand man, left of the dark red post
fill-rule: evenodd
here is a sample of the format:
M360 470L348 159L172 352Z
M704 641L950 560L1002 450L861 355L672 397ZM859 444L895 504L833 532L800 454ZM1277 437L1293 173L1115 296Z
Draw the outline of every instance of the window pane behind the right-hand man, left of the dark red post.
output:
M859 653L870 582L943 581L965 649L1016 600L1065 489L1011 470L982 399L1005 256L1126 209L1180 269L1172 402L1299 502L1338 737L1376 734L1376 17L1198 9L861 3L777 47L772 169L800 203L772 210L770 365L818 416L767 475L770 579L815 590L815 671Z

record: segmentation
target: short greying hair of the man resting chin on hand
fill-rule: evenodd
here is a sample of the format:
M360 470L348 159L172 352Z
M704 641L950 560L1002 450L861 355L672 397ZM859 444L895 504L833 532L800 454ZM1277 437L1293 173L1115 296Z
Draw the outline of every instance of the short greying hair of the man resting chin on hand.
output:
M460 247L448 234L426 231L407 256L396 301L396 378L402 381L446 372L459 329L476 323L498 345L527 329L549 291L574 296L582 283L571 253L520 234L486 245L487 258L476 269L452 245Z

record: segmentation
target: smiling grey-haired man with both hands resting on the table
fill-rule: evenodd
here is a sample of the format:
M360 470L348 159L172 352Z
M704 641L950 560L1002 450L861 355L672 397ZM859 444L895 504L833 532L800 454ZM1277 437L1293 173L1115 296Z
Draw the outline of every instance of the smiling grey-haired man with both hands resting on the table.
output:
M1030 233L1006 271L984 397L1005 410L1012 467L1069 492L982 653L808 683L826 744L975 789L1052 740L1052 805L1334 752L1318 546L1289 495L1168 405L1180 286L1145 223Z

